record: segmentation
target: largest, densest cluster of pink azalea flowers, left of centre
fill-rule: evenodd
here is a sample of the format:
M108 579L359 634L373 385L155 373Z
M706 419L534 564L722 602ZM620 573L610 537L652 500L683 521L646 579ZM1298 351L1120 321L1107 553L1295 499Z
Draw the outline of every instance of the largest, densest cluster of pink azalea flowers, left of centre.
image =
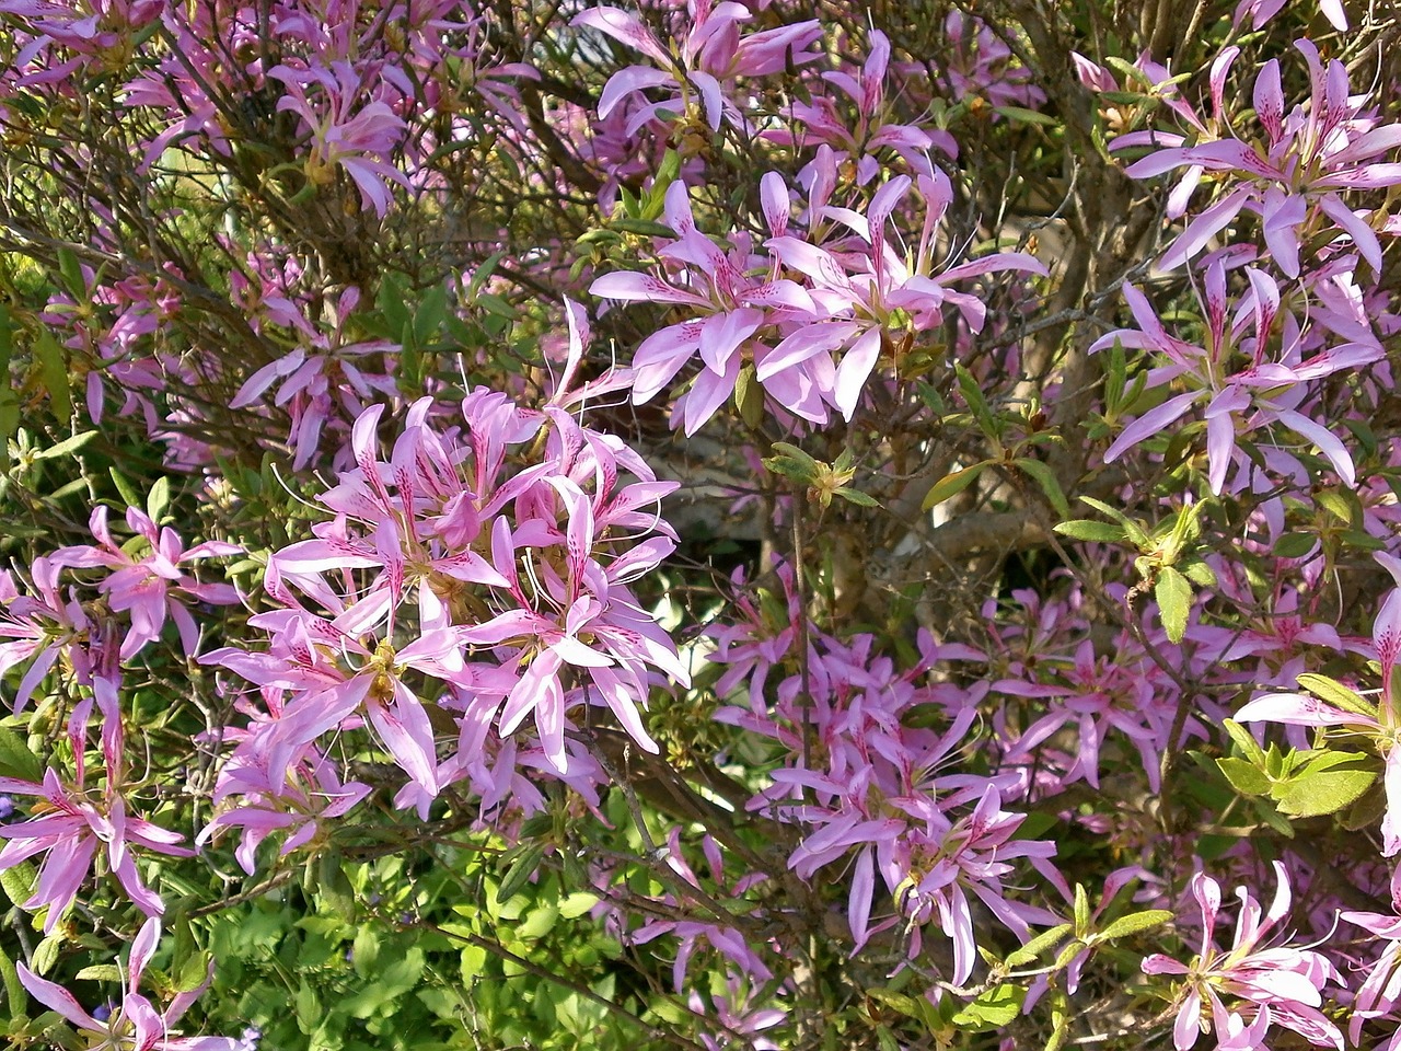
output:
M493 723L507 737L530 717L559 775L576 765L566 733L577 706L607 709L656 751L640 715L651 687L689 681L629 590L675 545L657 511L674 483L565 409L527 411L486 390L467 397L457 426L416 402L387 460L381 415L377 405L356 420L356 467L321 497L335 518L272 556L279 608L251 618L268 649L203 657L261 688L219 789L249 802L226 824L265 832L272 818L255 813L269 796L322 776L317 741L361 723L420 807L474 775L483 795L509 783L511 768L483 765ZM523 465L525 447L538 460ZM440 761L443 726L454 734ZM325 799L353 792L333 785ZM312 813L298 821L310 835Z

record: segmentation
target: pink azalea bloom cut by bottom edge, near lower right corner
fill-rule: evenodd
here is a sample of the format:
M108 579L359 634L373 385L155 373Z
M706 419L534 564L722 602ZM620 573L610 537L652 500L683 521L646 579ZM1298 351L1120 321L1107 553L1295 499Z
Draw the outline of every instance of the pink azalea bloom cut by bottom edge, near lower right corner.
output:
M1203 873L1192 876L1192 897L1202 912L1202 949L1191 964L1156 953L1143 960L1145 974L1180 975L1177 992L1177 1022L1173 1044L1187 1051L1198 1036L1217 1026L1223 1047L1258 1048L1264 1030L1272 1022L1299 1033L1314 1047L1335 1047L1342 1051L1342 1033L1320 1010L1323 988L1342 977L1328 960L1311 949L1267 944L1267 935L1289 912L1289 876L1285 866L1275 862L1279 880L1269 911L1261 915L1259 904L1245 887L1237 888L1241 901L1240 916L1231 947L1216 946L1216 919L1222 893L1216 880ZM1223 996L1236 1003L1227 1008ZM1203 1006L1210 1017L1203 1013ZM1268 1015L1267 1015L1268 1012ZM1267 1017L1261 1023L1261 1016ZM1231 1022L1230 1019L1236 1019ZM1226 1033L1220 1033L1222 1024ZM1245 1034L1251 1040L1245 1038Z

